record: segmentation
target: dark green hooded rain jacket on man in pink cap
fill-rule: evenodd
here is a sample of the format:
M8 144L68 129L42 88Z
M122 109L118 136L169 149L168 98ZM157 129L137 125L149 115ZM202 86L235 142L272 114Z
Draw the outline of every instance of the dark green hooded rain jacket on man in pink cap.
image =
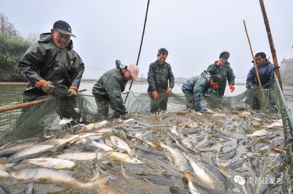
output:
M115 111L120 115L125 115L127 111L123 104L121 92L125 90L126 84L124 68L121 68L116 62L116 68L107 71L99 78L99 81L93 87L92 94L94 97L110 102Z

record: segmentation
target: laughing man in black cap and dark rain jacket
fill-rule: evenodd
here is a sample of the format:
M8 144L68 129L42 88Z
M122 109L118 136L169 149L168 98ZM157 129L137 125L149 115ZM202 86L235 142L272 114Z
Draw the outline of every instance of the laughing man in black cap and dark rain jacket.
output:
M23 92L23 102L52 94L56 86L63 85L68 91L64 99L72 104L84 73L84 62L73 50L71 37L76 36L66 21L58 20L50 33L43 33L40 37L27 49L18 64L21 74L29 82ZM57 112L61 118L78 120L80 117L71 105L66 110L58 107Z

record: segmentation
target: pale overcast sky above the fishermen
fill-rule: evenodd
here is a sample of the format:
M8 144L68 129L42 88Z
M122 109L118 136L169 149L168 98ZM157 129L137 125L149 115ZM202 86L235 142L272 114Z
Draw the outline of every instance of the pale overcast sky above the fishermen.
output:
M278 63L293 58L293 0L264 0ZM147 0L0 0L0 12L22 32L50 32L59 19L72 28L74 49L85 64L83 78L100 78L115 60L136 64ZM244 82L253 54L271 49L258 0L150 0L138 66L149 64L165 47L176 78L199 75L230 52L236 82ZM270 58L272 61L272 57Z

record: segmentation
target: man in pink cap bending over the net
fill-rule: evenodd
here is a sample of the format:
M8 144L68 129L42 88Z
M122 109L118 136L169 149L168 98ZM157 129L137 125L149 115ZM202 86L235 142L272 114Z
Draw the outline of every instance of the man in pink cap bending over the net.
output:
M92 94L96 98L99 114L108 117L108 105L114 110L114 116L118 113L121 118L128 119L128 114L121 93L125 91L127 81L138 78L139 69L135 64L129 66L116 60L116 68L107 71L94 85Z

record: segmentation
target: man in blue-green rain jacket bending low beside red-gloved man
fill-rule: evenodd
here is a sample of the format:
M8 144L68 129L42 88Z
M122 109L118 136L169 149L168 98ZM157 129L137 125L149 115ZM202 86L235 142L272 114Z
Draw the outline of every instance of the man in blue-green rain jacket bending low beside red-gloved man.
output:
M200 96L208 92L209 88L219 85L222 81L220 75L211 76L207 71L203 71L201 75L189 78L182 84L182 92L187 100L187 108L194 109L200 112L206 112L207 109L203 109L200 103Z

